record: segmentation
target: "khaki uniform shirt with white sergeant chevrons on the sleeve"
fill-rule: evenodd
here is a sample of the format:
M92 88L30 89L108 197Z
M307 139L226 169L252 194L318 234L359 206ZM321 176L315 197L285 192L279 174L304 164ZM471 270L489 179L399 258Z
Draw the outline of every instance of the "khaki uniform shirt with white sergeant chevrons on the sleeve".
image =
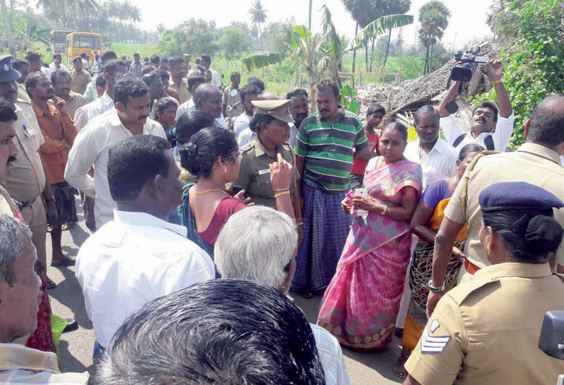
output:
M544 314L564 309L548 264L478 271L440 299L406 369L422 385L556 384L564 363L538 349Z

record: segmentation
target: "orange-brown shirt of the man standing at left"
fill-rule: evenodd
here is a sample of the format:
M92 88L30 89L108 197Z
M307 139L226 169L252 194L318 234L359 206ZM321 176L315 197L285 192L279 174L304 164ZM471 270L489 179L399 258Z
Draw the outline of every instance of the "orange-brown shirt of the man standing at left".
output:
M45 163L45 173L52 185L65 181L65 167L67 166L68 153L77 136L75 124L70 116L62 116L58 109L48 105L49 113L43 112L40 107L31 102L33 111L36 112L41 134L45 138L39 151Z

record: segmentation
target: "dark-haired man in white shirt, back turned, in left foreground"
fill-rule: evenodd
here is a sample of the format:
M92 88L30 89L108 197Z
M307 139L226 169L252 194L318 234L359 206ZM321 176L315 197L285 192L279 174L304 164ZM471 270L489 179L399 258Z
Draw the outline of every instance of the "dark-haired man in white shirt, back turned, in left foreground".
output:
M107 173L117 202L114 220L82 244L76 263L87 314L103 348L148 301L215 278L212 259L186 238L186 228L166 222L182 202L183 188L166 139L139 135L116 143Z

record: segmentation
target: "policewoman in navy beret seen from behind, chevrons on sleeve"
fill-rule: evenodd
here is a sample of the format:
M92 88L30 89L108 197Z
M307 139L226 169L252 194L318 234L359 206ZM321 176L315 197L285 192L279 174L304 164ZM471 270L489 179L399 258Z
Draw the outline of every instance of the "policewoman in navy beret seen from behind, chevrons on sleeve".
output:
M556 384L564 365L538 349L543 316L564 309L564 276L548 263L562 241L564 202L524 182L479 194L480 241L492 264L438 303L403 383Z

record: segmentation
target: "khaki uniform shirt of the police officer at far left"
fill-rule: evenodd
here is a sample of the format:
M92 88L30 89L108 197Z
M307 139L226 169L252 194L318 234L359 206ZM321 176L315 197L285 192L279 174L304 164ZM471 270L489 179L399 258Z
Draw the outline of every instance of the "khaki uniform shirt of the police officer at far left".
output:
M23 203L36 199L45 188L45 171L39 153L45 139L31 104L16 102L16 115L18 120L14 122L16 136L13 142L19 154L13 166L6 171L4 185L13 199Z

